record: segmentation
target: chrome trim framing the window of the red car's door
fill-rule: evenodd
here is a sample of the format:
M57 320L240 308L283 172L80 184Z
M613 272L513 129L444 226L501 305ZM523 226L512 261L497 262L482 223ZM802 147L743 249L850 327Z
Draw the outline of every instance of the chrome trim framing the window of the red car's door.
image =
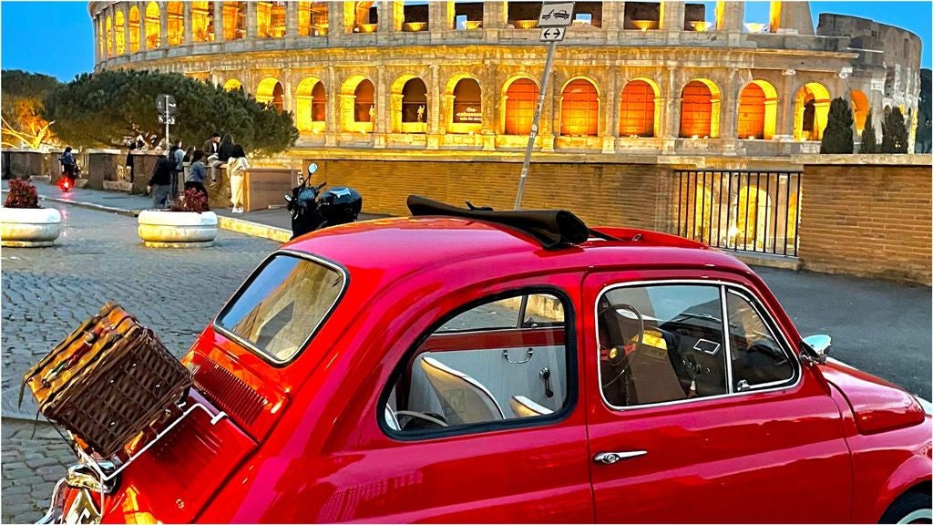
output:
M606 273L610 273L610 272L601 271L601 272L599 272L599 273L592 273L592 274L589 274L589 275L592 275L592 276L596 276L596 275L605 275ZM601 377L601 376L602 376L602 374L601 374L602 371L600 370L600 362L599 362L599 344L598 344L598 341L599 341L599 300L603 297L603 295L605 295L605 294L608 293L609 291L613 291L613 290L616 290L616 289L618 289L618 288L630 288L630 287L634 287L634 286L651 286L651 285L676 286L676 285L684 285L684 284L696 284L696 285L706 285L706 286L713 285L713 286L718 286L718 287L723 287L723 286L724 286L724 287L727 287L727 288L734 288L734 289L738 289L738 290L741 290L741 291L745 291L746 293L748 293L748 294L751 295L752 297L755 297L755 294L752 293L752 291L748 290L748 289L747 289L744 285L742 285L742 284L734 283L734 282L731 282L731 281L714 280L714 279L683 279L683 278L680 278L680 279L678 279L678 278L672 278L672 279L652 279L652 280L640 280L640 281L622 282L622 283L617 283L617 284L612 284L612 285L606 286L606 287L605 287L602 291L600 291L599 294L596 296L596 301L593 303L593 310L592 310L592 313L593 313L593 320L595 321L595 322L593 322L593 329L594 329L594 331L595 331L595 333L594 333L594 335L595 335L594 341L597 342L596 348L595 348L595 350L596 350L596 376L597 376L597 377ZM754 305L755 303L757 303L757 301L753 302L753 305ZM727 319L728 319L728 318L727 318ZM767 318L762 317L762 319L766 319L765 322L768 322L768 320L772 320L772 319L771 319L770 313L769 313L769 315L768 315ZM724 322L726 322L726 321L724 321ZM727 323L727 324L728 324L728 323ZM774 322L773 322L773 320L772 320L771 324L773 324L773 326L774 326L775 328L778 326L777 323L774 323ZM787 348L793 348L793 345L791 345L791 344L790 344L790 341L787 339L787 334L784 333L783 330L777 330L777 333L780 334L781 340L784 341L784 344L785 344L785 347L782 348L782 349L784 349L785 352L787 353L787 355L790 356L791 362L794 362L794 363L798 366L797 370L800 371L800 372L797 374L797 378L796 378L796 380L795 380L793 383L782 382L781 386L780 386L779 388L776 388L776 389L769 389L769 390L763 390L763 389L762 389L762 390L755 390L755 389L752 389L752 390L746 390L746 391L743 391L743 392L732 392L732 393L725 393L725 394L720 394L720 395L710 395L710 396L704 396L704 397L694 397L694 398L692 398L692 399L681 399L681 400L676 400L676 401L666 401L666 402L663 402L663 403L636 404L636 405L634 405L634 406L616 406L616 405L614 405L614 404L609 403L609 402L606 400L606 395L603 393L603 385L602 385L602 384L599 384L599 386L598 386L598 388L599 388L599 397L601 397L601 398L603 399L603 403L606 404L606 406L609 407L610 409L613 409L613 410L620 410L620 411L629 411L629 410L637 410L637 409L641 409L641 408L653 408L653 407L657 407L657 406L669 406L669 405L674 405L674 404L696 403L696 402L703 402L703 401L712 400L712 399L722 399L722 398L727 398L727 397L744 396L744 395L748 395L748 394L752 394L752 393L759 393L759 392L761 392L761 391L785 390L785 389L794 388L794 387L800 385L800 383L801 383L801 379L802 379L802 377L803 377L802 365L801 365L801 363L800 363L800 361L799 361L799 359L798 359L798 357L797 357L797 354L796 354L795 352L793 352L793 351L787 351ZM729 356L727 356L727 357L728 357L728 359L731 360L731 355L729 355Z

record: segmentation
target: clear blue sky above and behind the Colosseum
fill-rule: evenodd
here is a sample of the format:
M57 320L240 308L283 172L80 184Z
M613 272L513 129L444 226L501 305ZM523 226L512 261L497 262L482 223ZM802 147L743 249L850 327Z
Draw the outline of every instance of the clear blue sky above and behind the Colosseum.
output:
M715 2L707 4L713 19ZM811 2L821 12L855 15L897 25L923 40L922 66L931 63L933 2ZM767 2L747 2L745 21L768 21ZM0 67L43 73L68 81L93 69L93 30L87 2L0 2Z

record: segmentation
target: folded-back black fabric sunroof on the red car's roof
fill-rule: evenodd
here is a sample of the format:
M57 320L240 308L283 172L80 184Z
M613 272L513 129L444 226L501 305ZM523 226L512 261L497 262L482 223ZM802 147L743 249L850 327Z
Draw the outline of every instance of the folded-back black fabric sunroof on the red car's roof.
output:
M469 203L466 203L468 207L464 209L420 195L409 195L407 204L412 217L440 215L494 222L535 237L545 249L578 245L586 242L591 234L582 220L562 209L494 211L491 207L476 207Z

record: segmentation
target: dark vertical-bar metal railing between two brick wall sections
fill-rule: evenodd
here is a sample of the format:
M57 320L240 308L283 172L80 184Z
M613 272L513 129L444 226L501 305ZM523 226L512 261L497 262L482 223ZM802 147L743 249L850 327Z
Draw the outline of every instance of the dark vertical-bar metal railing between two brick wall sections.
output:
M797 256L801 172L675 170L676 226L715 248Z

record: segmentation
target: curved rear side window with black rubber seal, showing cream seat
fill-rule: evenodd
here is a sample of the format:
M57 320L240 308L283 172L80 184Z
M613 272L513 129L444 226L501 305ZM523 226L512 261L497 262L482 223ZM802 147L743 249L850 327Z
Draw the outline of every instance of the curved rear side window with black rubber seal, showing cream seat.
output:
M566 311L557 296L533 293L454 315L399 363L379 410L384 428L416 435L561 412L568 400Z

